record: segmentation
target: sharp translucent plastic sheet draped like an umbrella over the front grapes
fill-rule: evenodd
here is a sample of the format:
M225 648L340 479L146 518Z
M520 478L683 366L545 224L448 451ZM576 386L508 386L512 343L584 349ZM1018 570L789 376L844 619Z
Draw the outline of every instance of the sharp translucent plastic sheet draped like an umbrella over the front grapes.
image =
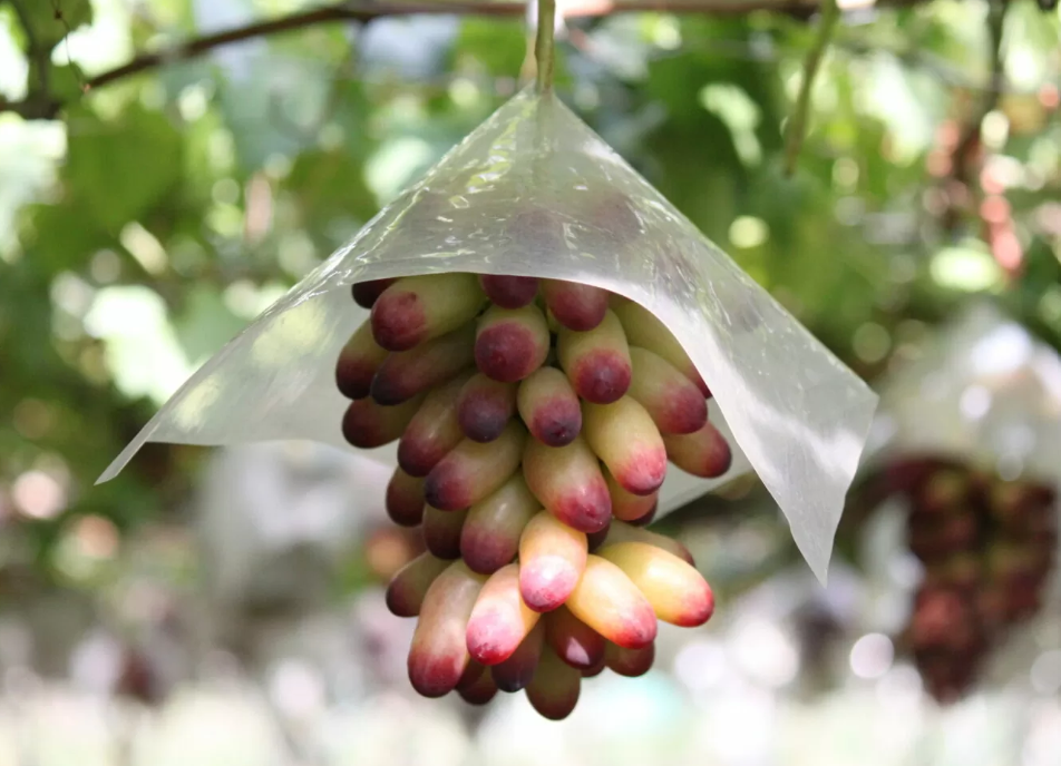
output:
M530 89L211 359L100 481L147 441L343 444L333 365L364 320L349 286L457 271L583 282L652 311L708 381L712 420L743 452L713 482L671 469L660 511L750 463L825 578L875 394L566 106ZM392 448L376 453L393 464Z

